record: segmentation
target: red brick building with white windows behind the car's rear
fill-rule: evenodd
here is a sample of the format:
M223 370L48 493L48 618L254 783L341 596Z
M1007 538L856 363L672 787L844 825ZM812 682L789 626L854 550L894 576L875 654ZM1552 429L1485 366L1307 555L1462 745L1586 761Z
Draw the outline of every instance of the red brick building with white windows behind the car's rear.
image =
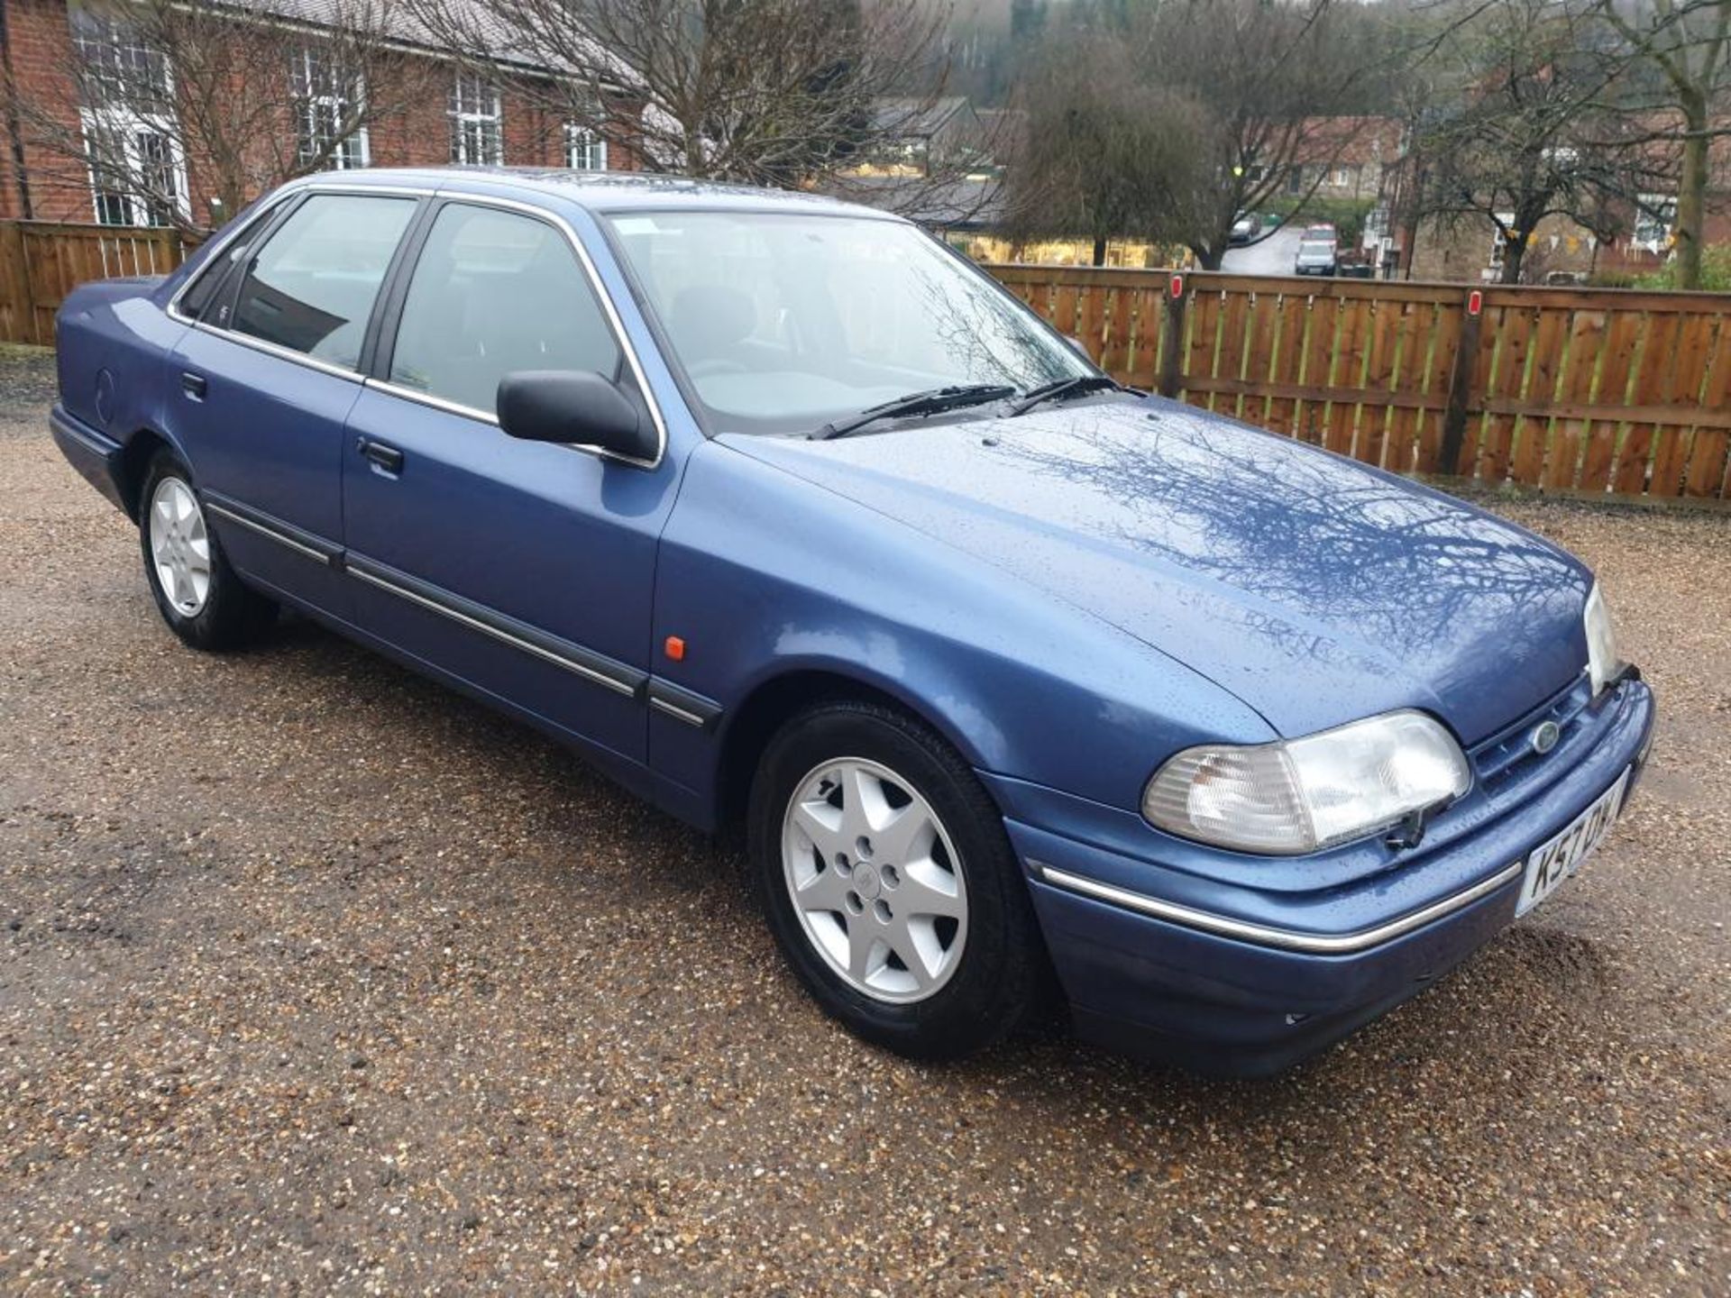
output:
M273 5L284 0L237 0L235 9ZM306 7L299 12L317 12ZM3 76L16 88L5 100L7 178L0 185L0 218L99 222L106 225L166 225L173 215L159 201L116 192L93 170L64 147L80 135L90 140L95 123L104 147L133 151L132 163L154 164L182 218L216 225L228 215L216 199L208 159L187 156L173 121L152 112L100 114L88 88L74 81L73 66L109 67L116 78L158 78L163 85L163 114L175 112L171 80L161 57L128 31L123 7L104 0L0 0L0 55ZM275 132L280 142L303 151L317 149L320 132L341 112L336 95L320 95L320 36L317 22L298 22L303 38L282 31L282 104ZM415 92L393 109L370 119L344 138L324 166L428 166L450 163L505 166L575 166L589 170L637 170L639 137L634 128L639 104L627 93L611 97L604 126L561 121L547 107L547 85L535 69L500 62L497 74L474 74L445 61L407 28L388 42L396 74ZM80 62L83 61L83 62ZM88 85L88 83L85 83ZM296 88L301 93L296 93ZM244 92L242 92L244 93ZM256 88L251 90L256 95ZM135 95L128 93L128 102ZM28 104L28 111L19 111ZM61 142L61 147L54 144ZM254 197L248 194L246 197Z

